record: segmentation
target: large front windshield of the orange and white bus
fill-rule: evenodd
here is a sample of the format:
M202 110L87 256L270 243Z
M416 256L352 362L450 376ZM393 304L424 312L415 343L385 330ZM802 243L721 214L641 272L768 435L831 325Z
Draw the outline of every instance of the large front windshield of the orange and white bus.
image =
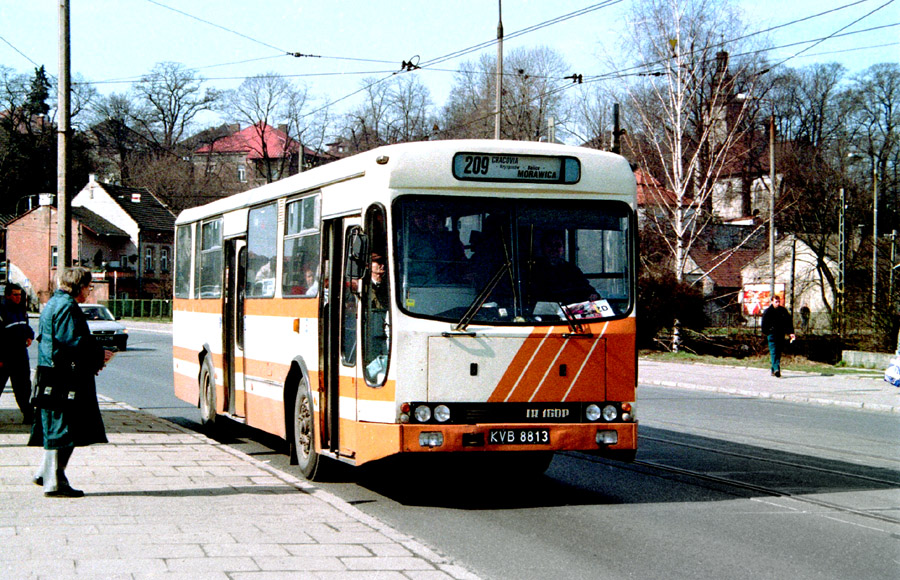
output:
M631 215L618 201L400 197L400 307L491 324L625 316L633 299Z

